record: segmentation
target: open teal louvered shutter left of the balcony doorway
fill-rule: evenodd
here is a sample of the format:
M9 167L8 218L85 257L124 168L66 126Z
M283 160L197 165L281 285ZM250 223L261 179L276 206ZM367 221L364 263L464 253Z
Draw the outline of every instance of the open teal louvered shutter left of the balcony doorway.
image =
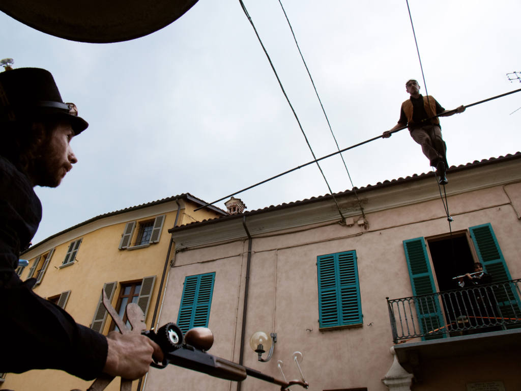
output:
M408 239L403 241L407 268L411 278L413 295L416 296L415 306L418 322L422 334L438 330L443 326L443 316L432 276L427 248L424 238ZM422 296L427 295L427 296ZM444 338L444 334L435 334L422 339Z

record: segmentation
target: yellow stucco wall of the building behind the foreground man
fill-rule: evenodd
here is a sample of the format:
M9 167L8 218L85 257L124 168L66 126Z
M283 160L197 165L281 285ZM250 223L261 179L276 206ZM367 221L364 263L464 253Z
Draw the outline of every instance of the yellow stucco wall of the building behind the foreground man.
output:
M191 223L193 218L208 219L217 217L216 212L203 209L194 212L197 206L187 200L180 201L181 208L177 225ZM121 235L127 222L150 221L158 215L165 214L165 221L158 243L135 250L119 250ZM147 328L151 327L155 304L159 295L159 285L163 274L170 234L168 229L174 226L177 214L177 203L167 203L143 207L142 209L123 212L116 216L100 219L94 223L75 228L69 232L51 239L48 243L39 243L35 248L23 254L22 258L29 259L29 266L24 268L20 278L27 279L31 265L35 258L54 248L54 254L47 267L40 285L34 291L42 297L59 295L70 290L70 296L65 310L80 324L89 326L100 299L104 283L118 282L113 306L116 306L121 283L139 281L143 277L156 276L153 295L146 316ZM134 230L134 239L138 228ZM66 256L69 243L82 238L76 261L66 267L59 267ZM171 257L173 256L173 248ZM157 320L157 317L156 317ZM105 322L103 333L107 334L110 321ZM63 371L34 370L23 374L7 374L1 388L15 390L70 390L73 388L86 389L92 382L85 382ZM133 389L138 382L133 383ZM114 381L107 391L118 390L119 380Z

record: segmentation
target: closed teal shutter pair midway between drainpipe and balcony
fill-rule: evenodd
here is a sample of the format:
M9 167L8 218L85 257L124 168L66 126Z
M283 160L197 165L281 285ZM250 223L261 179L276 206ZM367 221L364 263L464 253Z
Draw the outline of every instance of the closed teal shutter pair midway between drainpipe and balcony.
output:
M317 256L320 327L362 323L356 251Z

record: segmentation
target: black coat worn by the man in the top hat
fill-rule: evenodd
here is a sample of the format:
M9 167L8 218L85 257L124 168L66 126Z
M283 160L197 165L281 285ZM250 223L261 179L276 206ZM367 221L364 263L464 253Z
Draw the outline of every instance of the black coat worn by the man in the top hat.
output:
M36 295L34 278L22 282L15 273L41 218L28 178L0 156L0 372L59 369L91 380L105 366L106 337Z

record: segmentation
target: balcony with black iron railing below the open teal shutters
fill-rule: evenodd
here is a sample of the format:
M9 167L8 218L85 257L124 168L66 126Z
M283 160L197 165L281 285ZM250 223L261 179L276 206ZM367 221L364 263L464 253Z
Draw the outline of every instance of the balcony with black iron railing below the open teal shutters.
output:
M515 279L387 298L396 357L413 371L429 359L521 348L520 288Z

